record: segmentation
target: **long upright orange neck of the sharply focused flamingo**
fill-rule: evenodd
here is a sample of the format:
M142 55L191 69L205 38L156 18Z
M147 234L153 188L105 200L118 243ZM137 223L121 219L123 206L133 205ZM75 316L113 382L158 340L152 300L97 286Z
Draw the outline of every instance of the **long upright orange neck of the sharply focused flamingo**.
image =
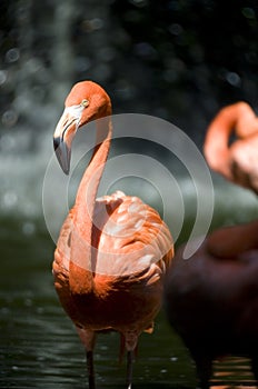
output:
M69 282L71 290L77 295L89 292L93 288L92 220L96 196L110 149L111 134L111 118L99 119L95 151L81 179L73 207Z

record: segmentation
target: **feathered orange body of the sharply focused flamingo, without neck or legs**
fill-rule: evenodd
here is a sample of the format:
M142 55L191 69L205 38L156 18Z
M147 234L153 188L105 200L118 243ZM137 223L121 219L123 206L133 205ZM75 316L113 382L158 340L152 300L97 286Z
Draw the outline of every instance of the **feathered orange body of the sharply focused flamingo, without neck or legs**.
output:
M102 216L109 216L107 207L111 209L111 217L100 220ZM131 211L128 212L128 209ZM54 253L56 289L66 311L79 328L92 331L113 329L125 333L131 326L140 333L152 327L160 308L162 275L170 260L169 253L157 261L150 238L159 235L159 246L168 245L170 236L158 212L139 198L122 192L97 199L93 220L97 219L99 236L95 236L98 241L95 243L95 269L86 270L95 272L92 289L87 292L82 289L80 293L70 296L72 290L68 280L73 210L62 227ZM116 235L112 233L113 228ZM78 272L82 271L79 266L77 268Z

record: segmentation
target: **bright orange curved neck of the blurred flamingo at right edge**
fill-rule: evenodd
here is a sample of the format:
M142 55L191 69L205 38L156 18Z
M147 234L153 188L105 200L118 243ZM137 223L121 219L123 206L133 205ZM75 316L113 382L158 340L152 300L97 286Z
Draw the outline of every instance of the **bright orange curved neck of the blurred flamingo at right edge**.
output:
M229 144L236 130L237 139ZM258 193L258 118L244 101L221 109L211 121L204 152L210 168Z

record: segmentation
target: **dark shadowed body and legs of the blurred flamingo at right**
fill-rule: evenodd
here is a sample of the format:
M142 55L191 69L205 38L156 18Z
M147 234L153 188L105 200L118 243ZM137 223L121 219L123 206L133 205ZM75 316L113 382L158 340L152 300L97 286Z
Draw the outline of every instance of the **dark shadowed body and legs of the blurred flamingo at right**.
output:
M245 245L239 243L242 231L249 236ZM258 221L220 229L188 260L181 247L169 270L168 319L196 362L202 389L209 388L212 361L227 355L250 358L258 380L257 231ZM212 253L218 239L225 248L220 257Z

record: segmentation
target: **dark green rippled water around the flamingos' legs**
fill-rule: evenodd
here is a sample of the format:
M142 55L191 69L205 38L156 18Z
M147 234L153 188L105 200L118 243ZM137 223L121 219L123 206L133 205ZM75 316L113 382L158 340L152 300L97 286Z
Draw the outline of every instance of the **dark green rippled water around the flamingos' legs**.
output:
M83 348L52 286L54 247L43 223L2 218L0 239L0 388L87 387ZM98 388L125 388L126 365L118 363L118 353L117 333L99 336ZM254 388L248 361L230 359L215 368L214 386ZM194 365L163 312L155 332L141 336L133 387L196 387Z

